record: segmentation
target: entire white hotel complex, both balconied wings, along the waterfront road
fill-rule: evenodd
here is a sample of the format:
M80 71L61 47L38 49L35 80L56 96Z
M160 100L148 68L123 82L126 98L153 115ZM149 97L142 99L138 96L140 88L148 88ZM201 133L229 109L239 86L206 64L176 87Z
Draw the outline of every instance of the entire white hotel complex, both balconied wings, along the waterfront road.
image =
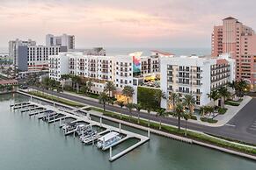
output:
M208 95L229 81L235 80L235 60L230 55L218 58L180 56L171 53L154 52L150 56L138 55L140 73L135 73L135 53L117 56L92 56L68 52L49 56L49 77L59 81L62 74L76 74L95 81L92 93L103 91L106 81L113 81L117 91L125 86L135 89L133 102L136 103L136 89L146 76L160 76L160 89L167 96L171 92L182 96L191 94L197 106L210 103ZM135 54L136 55L136 54ZM118 92L117 92L118 94ZM166 100L161 107L168 109Z

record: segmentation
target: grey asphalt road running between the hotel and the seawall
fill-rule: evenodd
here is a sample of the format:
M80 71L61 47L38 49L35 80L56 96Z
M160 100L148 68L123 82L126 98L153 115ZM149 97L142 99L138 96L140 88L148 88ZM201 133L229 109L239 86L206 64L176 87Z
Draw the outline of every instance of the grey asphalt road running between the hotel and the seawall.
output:
M33 87L33 89L38 89L37 87ZM40 89L38 89L40 90ZM57 93L55 91L50 90L44 90L45 93L49 93L51 95L60 96L63 98L67 98L72 101L76 101L79 103L88 104L95 107L101 107L102 105L87 100L84 98L80 98L77 96L70 96L63 93ZM209 127L202 124L194 124L194 123L187 123L187 128L194 130L194 131L202 131L211 135L220 136L223 138L232 138L235 140L243 141L246 143L251 143L256 145L256 98L253 98L249 103L245 105L245 107L238 112L238 114L233 117L226 125L223 125L221 127ZM113 110L115 112L119 112L122 114L128 115L129 112L126 109L121 109L120 107L116 107L113 105L106 105L106 110ZM136 116L136 112L132 112L133 116ZM140 113L140 117L143 117L145 119L150 119L154 121L158 121L159 118L150 115L147 113ZM177 119L172 117L161 117L162 123L165 124L172 124L172 125L178 125ZM185 127L185 121L181 121L181 126Z

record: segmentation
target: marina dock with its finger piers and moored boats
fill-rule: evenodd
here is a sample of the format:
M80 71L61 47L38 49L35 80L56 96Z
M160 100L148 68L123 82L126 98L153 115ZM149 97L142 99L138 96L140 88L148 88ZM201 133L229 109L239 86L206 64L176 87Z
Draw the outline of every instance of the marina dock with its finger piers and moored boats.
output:
M40 120L47 122L48 124L59 122L59 127L64 132L64 135L76 134L79 136L81 142L84 144L97 145L97 147L103 151L109 150L109 161L113 161L121 158L128 152L131 152L139 145L143 145L150 140L150 131L148 137L137 134L132 131L126 131L119 127L113 127L100 122L92 121L89 114L86 116L77 114L78 110L59 110L56 107L50 105L42 105L40 103L34 103L32 101L25 103L14 103L10 105L12 110L19 110L21 113L28 112L30 117L36 117ZM35 110L35 111L33 111ZM31 113L33 111L33 113ZM67 122L67 119L72 121ZM97 126L103 128L105 131L97 132L93 131L92 127ZM137 138L139 141L135 145L131 145L125 150L113 155L113 147L125 142L128 138ZM97 140L97 144L95 141Z

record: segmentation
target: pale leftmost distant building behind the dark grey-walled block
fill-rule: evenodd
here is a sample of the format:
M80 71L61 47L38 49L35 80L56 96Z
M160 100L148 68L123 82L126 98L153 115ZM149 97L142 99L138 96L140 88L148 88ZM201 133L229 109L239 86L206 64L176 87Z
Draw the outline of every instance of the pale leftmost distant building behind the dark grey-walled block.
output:
M36 46L36 42L28 39L28 40L11 40L9 41L9 57L13 60L13 65L18 65L18 46Z

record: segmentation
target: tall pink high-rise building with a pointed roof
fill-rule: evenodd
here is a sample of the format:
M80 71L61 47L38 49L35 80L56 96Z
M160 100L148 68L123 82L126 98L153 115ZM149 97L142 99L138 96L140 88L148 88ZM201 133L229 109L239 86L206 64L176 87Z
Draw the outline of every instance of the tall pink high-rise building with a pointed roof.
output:
M256 34L236 18L224 18L223 25L214 26L212 56L230 53L237 62L237 80L245 80L256 90Z

